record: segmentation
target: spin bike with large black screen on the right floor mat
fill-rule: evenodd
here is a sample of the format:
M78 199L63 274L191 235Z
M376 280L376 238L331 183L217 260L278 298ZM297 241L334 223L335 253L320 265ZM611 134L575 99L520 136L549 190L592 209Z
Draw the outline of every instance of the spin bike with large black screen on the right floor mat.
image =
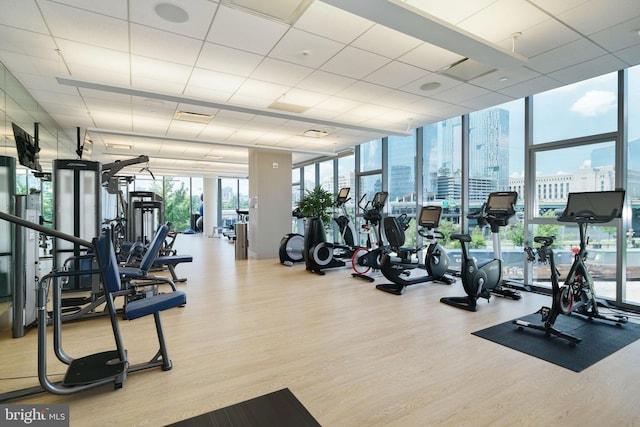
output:
M551 308L542 307L538 313L541 315L541 324L535 324L524 320L514 320L519 330L524 328L543 331L545 335L556 336L575 346L582 341L574 335L562 332L554 327L558 315L580 314L588 320L600 319L621 326L629 320L626 316L603 315L598 311L598 302L593 284L593 278L585 265L587 259L587 226L594 223L607 223L622 216L622 204L624 191L604 191L590 193L569 193L567 208L558 221L575 222L580 231L580 248L575 254L573 264L562 286L559 285L560 273L556 269L555 259L551 245L554 237L537 236L533 240L540 243L534 253L531 248L525 248L529 262L537 259L542 263L549 263L551 269Z

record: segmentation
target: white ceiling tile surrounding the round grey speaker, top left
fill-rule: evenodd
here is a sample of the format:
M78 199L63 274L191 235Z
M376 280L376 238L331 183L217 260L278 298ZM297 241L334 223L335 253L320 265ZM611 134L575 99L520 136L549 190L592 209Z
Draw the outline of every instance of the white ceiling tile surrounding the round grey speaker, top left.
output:
M158 28L184 36L193 37L199 40L204 39L209 31L211 20L218 8L217 3L208 0L189 0L178 2L179 6L187 12L189 19L184 23L173 23L161 18L155 7L158 0L135 0L129 1L131 22ZM173 2L176 3L176 2Z

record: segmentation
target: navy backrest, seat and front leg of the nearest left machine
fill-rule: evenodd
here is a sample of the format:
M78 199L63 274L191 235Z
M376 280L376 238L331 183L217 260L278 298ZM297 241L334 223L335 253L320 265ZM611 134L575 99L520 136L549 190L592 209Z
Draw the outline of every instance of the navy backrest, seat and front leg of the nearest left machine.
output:
M102 281L105 291L110 293L120 291L122 288L120 271L110 238L108 236L101 236L98 239L95 239L95 246L98 263L100 268L103 269ZM151 314L153 315L159 343L158 351L148 362L129 365L127 373L154 367L161 367L163 371L171 369L172 364L167 351L160 312L169 308L182 306L186 303L187 295L183 291L172 291L147 296L146 298L131 301L124 306L123 315L127 320L134 320Z

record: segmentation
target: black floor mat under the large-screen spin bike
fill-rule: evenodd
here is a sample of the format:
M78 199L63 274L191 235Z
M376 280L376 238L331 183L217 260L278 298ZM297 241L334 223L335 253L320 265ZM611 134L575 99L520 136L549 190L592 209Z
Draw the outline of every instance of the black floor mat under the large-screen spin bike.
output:
M530 314L518 319L540 323L539 314ZM626 323L615 326L606 321L588 321L578 315L558 316L555 327L582 338L582 342L572 347L564 339L546 337L542 331L529 328L519 330L512 321L473 332L473 335L575 372L588 368L640 338L638 324Z

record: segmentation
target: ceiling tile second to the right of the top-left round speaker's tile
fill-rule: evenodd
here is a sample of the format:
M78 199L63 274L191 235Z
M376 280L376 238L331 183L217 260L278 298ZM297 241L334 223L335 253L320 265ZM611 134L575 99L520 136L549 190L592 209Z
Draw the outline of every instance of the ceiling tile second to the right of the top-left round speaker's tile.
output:
M269 57L317 68L344 46L342 43L291 28L269 52Z

